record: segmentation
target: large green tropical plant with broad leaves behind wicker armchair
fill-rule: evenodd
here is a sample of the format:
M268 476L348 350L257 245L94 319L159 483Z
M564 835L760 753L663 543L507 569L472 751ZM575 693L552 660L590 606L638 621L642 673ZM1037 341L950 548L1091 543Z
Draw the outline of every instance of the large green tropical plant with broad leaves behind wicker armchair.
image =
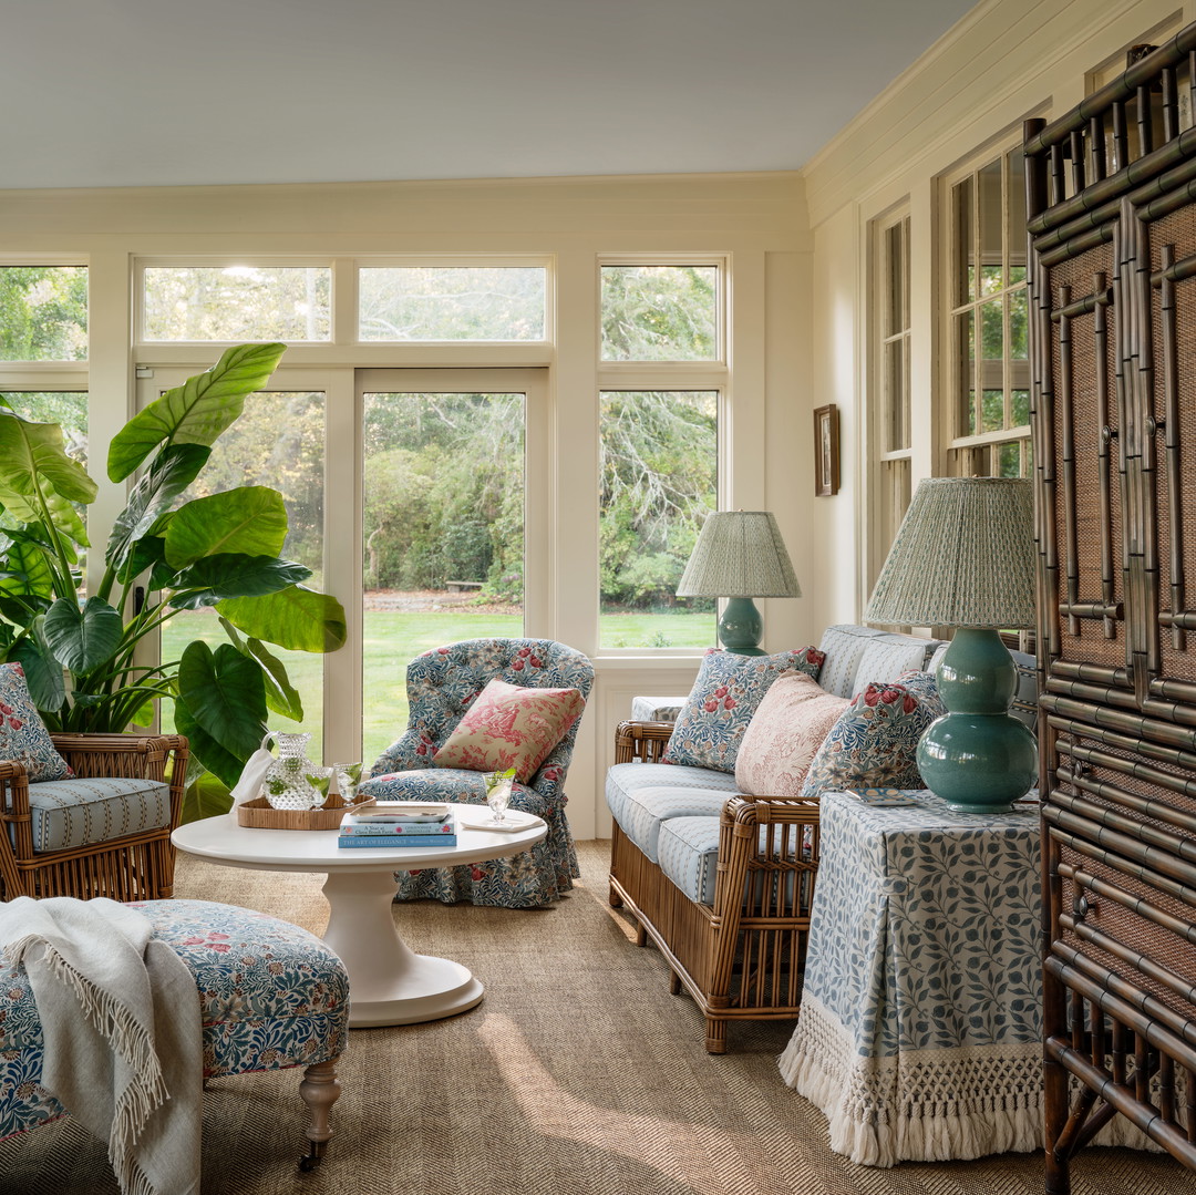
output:
M266 645L334 651L344 642L344 611L304 586L311 569L281 559L282 495L240 486L178 505L283 349L228 349L112 439L109 478L138 478L92 593L84 589L90 544L79 507L94 500L94 481L67 455L59 425L0 409L0 658L24 666L51 730L148 725L165 699L193 756L226 789L260 745L267 709L303 717ZM216 611L228 642L213 651L195 640L178 659L147 660L147 636L203 606Z

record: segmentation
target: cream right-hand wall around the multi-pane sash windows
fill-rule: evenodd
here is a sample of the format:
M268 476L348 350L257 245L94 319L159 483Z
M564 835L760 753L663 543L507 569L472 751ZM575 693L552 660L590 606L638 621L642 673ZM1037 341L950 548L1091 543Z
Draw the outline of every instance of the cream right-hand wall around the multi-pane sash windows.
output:
M936 311L940 178L1020 139L1030 116L1061 116L1086 74L1196 19L1167 0L984 0L803 171L813 236L814 407L840 406L843 489L822 499L816 621L856 621L867 602L869 222L908 205L911 238L913 477L941 471L946 345ZM852 544L849 549L846 545ZM843 545L840 548L840 545Z

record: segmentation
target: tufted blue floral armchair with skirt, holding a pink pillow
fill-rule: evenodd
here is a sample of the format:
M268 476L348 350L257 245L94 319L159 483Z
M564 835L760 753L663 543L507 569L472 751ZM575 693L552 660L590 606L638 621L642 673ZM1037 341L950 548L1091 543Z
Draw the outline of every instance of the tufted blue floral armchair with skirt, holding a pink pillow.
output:
M550 639L468 639L425 652L407 667L407 730L374 762L361 792L379 800L484 805L482 772L446 767L445 756L439 762L434 756L492 681L520 689L576 690L584 701L593 683L593 667L581 652ZM575 694L572 696L576 701ZM579 872L565 816L565 775L580 721L575 717L532 774L518 778L512 787L511 807L548 823L543 841L511 859L401 872L396 877L398 900L533 908L568 891Z

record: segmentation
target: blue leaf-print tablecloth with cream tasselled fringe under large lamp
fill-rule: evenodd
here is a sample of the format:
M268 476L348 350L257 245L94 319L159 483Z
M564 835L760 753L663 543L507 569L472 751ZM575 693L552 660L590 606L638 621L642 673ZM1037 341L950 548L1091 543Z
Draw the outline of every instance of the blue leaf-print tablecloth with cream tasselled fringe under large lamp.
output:
M781 1073L865 1165L1036 1150L1037 803L956 813L822 799L801 1014Z

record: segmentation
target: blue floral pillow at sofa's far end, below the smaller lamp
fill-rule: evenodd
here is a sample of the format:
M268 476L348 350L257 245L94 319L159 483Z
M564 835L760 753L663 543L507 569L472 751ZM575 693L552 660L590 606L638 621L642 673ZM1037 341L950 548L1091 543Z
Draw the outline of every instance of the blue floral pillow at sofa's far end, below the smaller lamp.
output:
M817 681L825 658L817 647L776 656L708 652L661 762L734 772L744 731L769 685L786 672L805 672Z

